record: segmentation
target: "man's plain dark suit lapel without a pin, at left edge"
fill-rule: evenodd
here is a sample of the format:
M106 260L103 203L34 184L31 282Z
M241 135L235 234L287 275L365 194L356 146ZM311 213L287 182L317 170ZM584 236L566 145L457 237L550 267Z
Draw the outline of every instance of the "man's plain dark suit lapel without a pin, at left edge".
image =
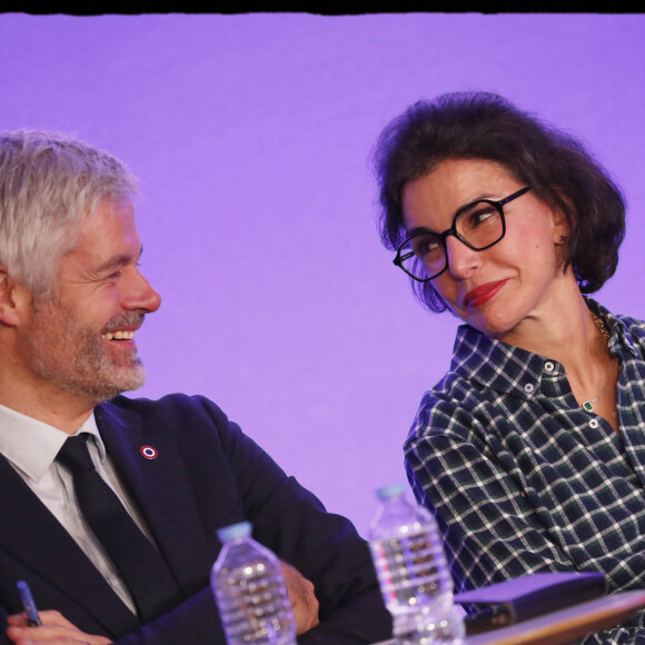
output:
M0 455L0 548L73 598L108 633L136 617L67 530Z

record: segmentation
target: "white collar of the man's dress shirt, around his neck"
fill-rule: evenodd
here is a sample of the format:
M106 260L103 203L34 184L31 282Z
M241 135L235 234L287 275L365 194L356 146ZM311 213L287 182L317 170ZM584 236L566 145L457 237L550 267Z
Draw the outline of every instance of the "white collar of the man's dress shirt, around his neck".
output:
M95 438L102 462L106 448L93 414L76 434L81 433ZM0 453L29 479L38 482L44 475L68 437L49 424L0 405Z

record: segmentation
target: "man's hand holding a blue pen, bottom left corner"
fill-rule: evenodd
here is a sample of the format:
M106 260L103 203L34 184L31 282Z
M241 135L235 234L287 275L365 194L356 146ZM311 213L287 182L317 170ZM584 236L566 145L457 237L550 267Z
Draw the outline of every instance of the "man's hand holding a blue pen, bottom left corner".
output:
M16 645L110 645L111 641L105 636L92 636L75 627L59 612L40 612L42 626L29 627L27 614L14 614L7 622L7 636Z

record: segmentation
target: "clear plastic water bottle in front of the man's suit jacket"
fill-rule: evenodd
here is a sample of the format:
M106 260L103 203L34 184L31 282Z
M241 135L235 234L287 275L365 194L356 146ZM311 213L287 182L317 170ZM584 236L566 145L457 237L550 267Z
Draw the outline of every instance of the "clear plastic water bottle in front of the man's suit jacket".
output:
M278 558L241 522L217 532L224 544L210 585L228 645L296 645L296 622Z

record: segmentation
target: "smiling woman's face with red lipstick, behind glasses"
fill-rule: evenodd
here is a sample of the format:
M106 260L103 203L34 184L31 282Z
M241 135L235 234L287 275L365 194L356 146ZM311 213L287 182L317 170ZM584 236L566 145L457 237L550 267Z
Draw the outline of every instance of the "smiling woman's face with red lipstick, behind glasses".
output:
M406 230L443 232L455 214L478 199L503 200L524 188L502 165L482 159L450 159L403 190ZM565 217L533 191L504 206L506 235L483 251L446 238L448 268L433 279L449 309L462 320L502 340L526 319L558 314L562 298L570 299L572 271L559 268ZM560 309L562 311L562 309Z

